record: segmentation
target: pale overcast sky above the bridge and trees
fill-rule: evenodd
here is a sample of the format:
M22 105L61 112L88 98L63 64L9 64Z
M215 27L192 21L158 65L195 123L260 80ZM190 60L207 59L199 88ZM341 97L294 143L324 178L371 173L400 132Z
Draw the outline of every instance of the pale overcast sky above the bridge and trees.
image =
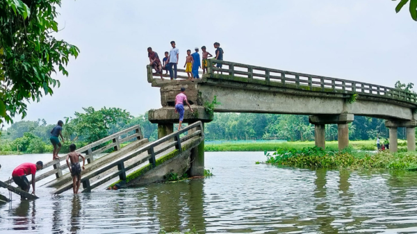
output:
M416 79L417 22L398 1L63 1L57 37L81 50L52 97L28 105L26 119L54 124L82 107L132 115L160 108L147 83L147 47L163 56L220 42L224 60L393 87ZM244 101L244 100L243 100ZM15 121L19 121L16 118Z

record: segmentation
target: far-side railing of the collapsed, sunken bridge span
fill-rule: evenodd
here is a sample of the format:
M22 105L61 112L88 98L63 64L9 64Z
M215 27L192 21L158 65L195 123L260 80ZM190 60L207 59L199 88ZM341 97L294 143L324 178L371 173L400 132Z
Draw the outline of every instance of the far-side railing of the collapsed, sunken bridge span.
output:
M133 132L133 134L131 134ZM125 134L131 134L124 138L122 138L122 135ZM108 149L113 148L115 151L120 150L120 144L124 142L128 142L129 140L140 140L143 138L142 130L140 129L139 125L132 126L130 128L126 128L123 131L120 131L118 133L115 133L113 135L109 135L108 137L104 137L101 140L98 140L97 142L93 142L91 144L86 145L85 147L81 147L80 149L77 149L76 152L78 153L85 153L85 160L87 163L92 163L94 158L93 156L103 153L104 151L107 151ZM106 144L106 146L95 149L100 144L109 143ZM49 172L45 172L43 174L37 174L36 181L40 181L44 178L47 178L52 175L56 175L56 178L60 178L63 176L63 169L67 168L66 162L63 163L63 165L60 165L60 162L65 160L66 156L62 156L59 159L49 161L47 163L44 163L43 169L47 169L49 167L54 167L54 169L51 169ZM42 170L40 172L42 172ZM13 179L10 178L10 180L5 181L5 183L12 183Z

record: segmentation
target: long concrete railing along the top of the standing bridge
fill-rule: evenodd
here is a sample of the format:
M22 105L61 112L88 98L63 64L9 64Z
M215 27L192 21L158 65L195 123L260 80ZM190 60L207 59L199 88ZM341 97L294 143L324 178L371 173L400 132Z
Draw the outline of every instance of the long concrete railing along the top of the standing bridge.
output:
M221 64L222 68L213 67L215 64ZM248 83L261 83L264 85L272 86L282 85L300 90L311 90L319 92L337 92L346 94L357 93L377 97L386 97L389 99L397 99L400 101L417 104L417 94L404 90L398 90L392 87L373 85L359 81L347 81L340 78L288 72L266 67L256 67L224 60L209 59L208 74L215 74L215 72L226 76L212 77L227 78L227 76L232 76L235 80L237 79L238 81L244 81Z

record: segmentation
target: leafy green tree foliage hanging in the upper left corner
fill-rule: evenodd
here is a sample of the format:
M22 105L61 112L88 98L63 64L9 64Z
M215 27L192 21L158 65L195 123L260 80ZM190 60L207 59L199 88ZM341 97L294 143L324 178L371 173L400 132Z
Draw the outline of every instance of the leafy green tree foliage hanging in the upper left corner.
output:
M79 54L77 47L51 35L58 32L60 2L0 1L0 124L13 123L16 114L24 118L26 101L53 94L60 82L52 73L58 68L68 76L65 66Z

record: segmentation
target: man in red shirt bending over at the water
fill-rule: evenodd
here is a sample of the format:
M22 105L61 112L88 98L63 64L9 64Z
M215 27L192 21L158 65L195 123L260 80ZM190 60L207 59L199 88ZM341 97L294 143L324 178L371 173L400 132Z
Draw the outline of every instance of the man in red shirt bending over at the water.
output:
M43 162L38 161L36 164L31 162L25 162L18 167L16 167L12 172L13 181L20 187L20 189L29 192L31 185L29 185L28 178L26 176L32 175L32 187L33 192L32 194L35 195L35 174L36 171L39 171L43 167Z

